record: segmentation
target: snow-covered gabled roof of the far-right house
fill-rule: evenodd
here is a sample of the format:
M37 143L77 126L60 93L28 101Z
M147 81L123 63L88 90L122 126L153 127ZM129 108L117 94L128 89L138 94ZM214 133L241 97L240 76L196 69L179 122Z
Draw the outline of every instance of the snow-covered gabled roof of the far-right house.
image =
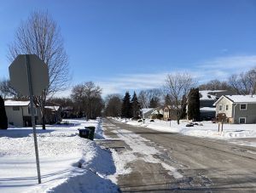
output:
M229 99L232 103L256 103L256 95L224 95L221 96L213 105L217 105L223 98Z

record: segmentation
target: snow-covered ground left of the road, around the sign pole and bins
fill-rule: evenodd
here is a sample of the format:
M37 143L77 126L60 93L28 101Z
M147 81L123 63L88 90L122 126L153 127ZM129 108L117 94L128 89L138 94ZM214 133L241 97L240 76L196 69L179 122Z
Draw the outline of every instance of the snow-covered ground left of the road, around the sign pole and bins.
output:
M42 184L34 153L32 128L0 130L0 192L117 192L108 176L115 166L111 152L79 137L78 128L96 127L100 120L68 120L70 124L37 128Z

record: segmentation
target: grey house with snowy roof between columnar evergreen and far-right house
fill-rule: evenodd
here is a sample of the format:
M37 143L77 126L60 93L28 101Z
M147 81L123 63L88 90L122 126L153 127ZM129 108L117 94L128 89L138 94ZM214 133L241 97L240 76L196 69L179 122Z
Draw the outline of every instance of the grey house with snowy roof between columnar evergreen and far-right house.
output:
M211 120L215 118L216 108L213 104L225 94L234 94L233 91L227 90L201 90L200 95L200 119Z

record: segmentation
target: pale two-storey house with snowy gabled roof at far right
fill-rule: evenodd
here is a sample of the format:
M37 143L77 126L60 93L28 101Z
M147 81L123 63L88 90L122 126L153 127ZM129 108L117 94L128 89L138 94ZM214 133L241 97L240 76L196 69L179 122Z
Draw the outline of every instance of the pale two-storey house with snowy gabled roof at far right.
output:
M255 95L224 95L213 105L216 105L216 116L223 113L230 123L256 123Z

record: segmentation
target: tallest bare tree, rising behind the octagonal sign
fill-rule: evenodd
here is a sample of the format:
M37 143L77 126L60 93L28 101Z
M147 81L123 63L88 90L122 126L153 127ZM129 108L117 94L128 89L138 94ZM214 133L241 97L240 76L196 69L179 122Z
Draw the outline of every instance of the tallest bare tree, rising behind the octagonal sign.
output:
M51 98L56 92L65 90L70 81L61 32L48 13L34 12L28 20L21 22L15 33L15 41L9 45L9 60L15 60L18 54L37 54L48 65L49 87L44 89L41 96L34 97L34 101L40 106L45 129L46 98Z

